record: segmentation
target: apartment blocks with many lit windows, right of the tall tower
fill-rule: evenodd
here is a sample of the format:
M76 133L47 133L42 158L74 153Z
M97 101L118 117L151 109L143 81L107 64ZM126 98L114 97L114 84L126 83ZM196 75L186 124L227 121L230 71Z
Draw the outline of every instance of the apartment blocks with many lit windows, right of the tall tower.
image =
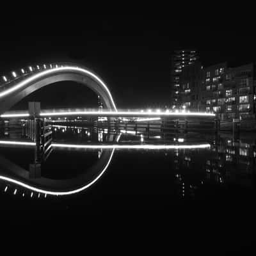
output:
M254 68L253 63L240 67L219 63L200 69L194 63L189 72L184 69L180 74L181 100L189 109L214 112L221 120L255 119Z

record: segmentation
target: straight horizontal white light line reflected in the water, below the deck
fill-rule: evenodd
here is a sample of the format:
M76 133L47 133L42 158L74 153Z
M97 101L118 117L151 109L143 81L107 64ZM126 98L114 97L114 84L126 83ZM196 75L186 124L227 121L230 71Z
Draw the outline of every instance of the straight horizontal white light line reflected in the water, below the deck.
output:
M0 141L0 145L22 145L22 146L35 146L34 142L22 142L22 141ZM211 145L208 144L198 144L198 145L76 145L76 144L61 144L52 143L54 148L88 148L88 149L193 149L193 148L209 148Z

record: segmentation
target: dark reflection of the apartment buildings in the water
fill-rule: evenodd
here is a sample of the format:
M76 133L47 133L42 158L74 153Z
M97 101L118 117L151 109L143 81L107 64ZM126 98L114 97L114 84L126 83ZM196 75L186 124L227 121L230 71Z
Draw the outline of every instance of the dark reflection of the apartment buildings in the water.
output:
M255 139L233 140L231 134L216 136L204 154L198 150L176 150L177 195L193 198L199 188L208 185L237 185L253 189L255 156Z

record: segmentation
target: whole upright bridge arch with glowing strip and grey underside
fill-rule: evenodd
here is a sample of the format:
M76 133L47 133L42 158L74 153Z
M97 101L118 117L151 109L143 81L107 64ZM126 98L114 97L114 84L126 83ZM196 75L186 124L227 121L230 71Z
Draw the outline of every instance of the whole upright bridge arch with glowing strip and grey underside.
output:
M45 67L45 65L44 65ZM48 84L60 81L74 81L88 86L102 98L104 108L117 111L113 97L108 86L92 71L76 65L65 65L64 67L45 68L38 72L21 76L11 81L6 86L0 87L0 114L8 111L17 102L29 94L47 86Z

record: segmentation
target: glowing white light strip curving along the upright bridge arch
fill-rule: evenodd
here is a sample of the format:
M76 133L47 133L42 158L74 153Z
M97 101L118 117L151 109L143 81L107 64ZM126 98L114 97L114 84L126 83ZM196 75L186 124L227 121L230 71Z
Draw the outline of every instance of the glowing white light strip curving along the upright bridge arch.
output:
M93 74L89 70L86 70L84 68L79 68L79 67L72 67L72 66L51 68L49 70L44 70L42 72L39 72L39 73L37 73L37 74L35 74L33 76L28 77L24 81L21 81L20 83L12 86L12 88L4 90L4 92L0 93L0 98L4 97L4 96L6 96L6 95L8 95L8 94L10 94L12 92L15 92L16 90L19 90L20 88L26 86L28 83L36 81L36 79L39 79L40 77L47 76L49 74L54 74L55 72L70 71L70 70L71 71L82 72L82 73L84 73L86 75L89 75L89 76L92 76L94 79L96 79L106 89L106 91L108 92L108 96L109 96L109 98L111 100L111 103L113 104L113 106L115 108L115 111L117 111L115 102L114 102L114 100L112 98L111 93L109 92L108 86L106 86L106 84L98 76L96 76L95 74Z

